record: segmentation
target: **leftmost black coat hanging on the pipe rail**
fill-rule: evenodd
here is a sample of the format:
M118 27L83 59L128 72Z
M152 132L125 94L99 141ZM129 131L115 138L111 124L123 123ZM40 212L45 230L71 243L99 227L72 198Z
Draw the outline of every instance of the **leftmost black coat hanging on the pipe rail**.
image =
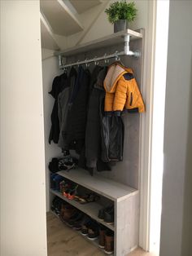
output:
M54 107L50 116L51 120L51 128L50 128L50 136L49 143L53 140L54 143L58 143L59 140L59 117L58 117L58 95L59 93L67 86L67 74L63 73L62 75L55 77L52 90L50 90L49 94L52 95L55 99Z

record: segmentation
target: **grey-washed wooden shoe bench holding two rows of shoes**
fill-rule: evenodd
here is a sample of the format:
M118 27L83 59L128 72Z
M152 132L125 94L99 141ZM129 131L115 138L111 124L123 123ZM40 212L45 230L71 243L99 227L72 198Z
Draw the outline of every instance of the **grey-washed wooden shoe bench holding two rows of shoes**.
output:
M92 192L96 192L114 203L115 221L114 224L108 224L98 218L98 211L103 209L103 205L99 204L98 201L82 205L78 201L64 197L61 192L50 189L50 193L59 196L63 201L67 201L114 232L114 255L125 255L137 247L137 232L135 232L137 231L139 220L137 189L117 183L112 179L104 178L101 175L90 176L83 169L70 170L69 172L63 170L57 174L84 188L88 188ZM96 241L93 241L93 243L97 245Z

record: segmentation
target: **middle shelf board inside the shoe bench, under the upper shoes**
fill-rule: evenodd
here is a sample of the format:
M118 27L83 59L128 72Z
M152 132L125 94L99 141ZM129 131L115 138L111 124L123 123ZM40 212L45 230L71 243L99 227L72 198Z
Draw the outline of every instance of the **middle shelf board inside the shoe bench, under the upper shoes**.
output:
M62 194L60 192L57 192L57 191L55 191L53 189L50 189L50 192L52 194L54 194L55 196L59 196L64 201L67 201L70 205L73 205L74 207L76 207L77 209L81 210L85 214L89 215L90 218L94 218L98 223L101 223L104 226L106 226L109 229L111 229L112 231L114 231L114 229L115 229L114 225L107 224L103 220L98 218L98 210L103 209L103 205L99 205L96 202L88 203L88 204L84 204L83 205L83 204L80 204L79 202L77 202L75 200L68 200L68 198L62 196Z

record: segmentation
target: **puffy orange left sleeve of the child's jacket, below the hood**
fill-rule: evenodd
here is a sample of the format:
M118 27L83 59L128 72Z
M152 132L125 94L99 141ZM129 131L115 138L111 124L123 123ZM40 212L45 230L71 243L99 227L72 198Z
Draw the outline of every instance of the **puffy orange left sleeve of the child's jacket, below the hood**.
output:
M118 115L124 110L124 104L127 99L127 83L122 77L116 86L116 94L113 104L113 111Z

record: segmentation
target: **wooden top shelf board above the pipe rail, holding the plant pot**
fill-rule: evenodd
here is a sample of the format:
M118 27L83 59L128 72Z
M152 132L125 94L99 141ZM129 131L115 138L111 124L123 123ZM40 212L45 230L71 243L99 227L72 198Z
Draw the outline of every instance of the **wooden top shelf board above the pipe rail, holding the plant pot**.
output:
M121 42L124 42L124 36L126 35L130 35L130 40L142 38L142 33L138 33L131 29L126 29L118 33L112 33L111 35L108 35L103 38L98 38L91 42L86 42L85 44L81 44L79 46L73 46L63 51L56 51L55 55L63 55L67 57L70 55L76 55L90 50L97 50L98 48L102 47L113 46Z

